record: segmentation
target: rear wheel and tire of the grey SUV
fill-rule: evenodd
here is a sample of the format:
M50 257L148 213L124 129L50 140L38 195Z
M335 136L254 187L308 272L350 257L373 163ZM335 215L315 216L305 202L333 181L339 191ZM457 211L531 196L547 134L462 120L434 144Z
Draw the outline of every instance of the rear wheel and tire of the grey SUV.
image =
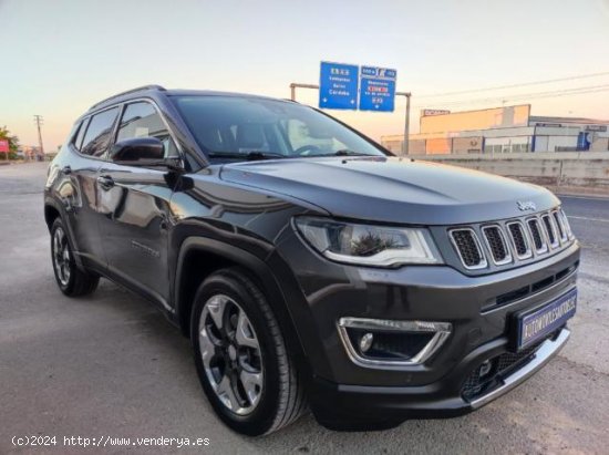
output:
M97 288L100 277L76 267L73 248L60 217L51 226L51 262L59 289L65 296L86 296Z

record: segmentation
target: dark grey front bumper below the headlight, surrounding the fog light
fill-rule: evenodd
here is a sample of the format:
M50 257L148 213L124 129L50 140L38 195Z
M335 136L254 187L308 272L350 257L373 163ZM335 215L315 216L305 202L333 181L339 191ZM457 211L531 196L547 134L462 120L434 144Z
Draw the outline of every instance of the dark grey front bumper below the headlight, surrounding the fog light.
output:
M475 399L464 397L464 383L484 361L512 351L514 314L540 308L576 286L579 254L576 241L535 263L466 276L446 266L372 269L332 263L292 235L268 262L283 271L278 281L304 351L313 413L330 427L353 428L361 420L369 428L411 416L460 415L534 374L565 343L565 327L538 347L526 368L520 364L497 376ZM529 292L519 293L523 288ZM452 332L422 364L367 368L353 362L339 335L338 321L350 317L447 322Z

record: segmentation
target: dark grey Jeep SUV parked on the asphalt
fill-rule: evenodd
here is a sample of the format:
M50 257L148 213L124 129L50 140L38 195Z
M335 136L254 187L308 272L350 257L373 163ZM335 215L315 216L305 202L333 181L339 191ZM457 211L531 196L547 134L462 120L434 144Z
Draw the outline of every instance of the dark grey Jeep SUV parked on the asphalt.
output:
M95 104L44 193L56 282L100 277L190 337L231 428L476 410L569 337L579 245L548 190L396 158L324 113L147 86Z

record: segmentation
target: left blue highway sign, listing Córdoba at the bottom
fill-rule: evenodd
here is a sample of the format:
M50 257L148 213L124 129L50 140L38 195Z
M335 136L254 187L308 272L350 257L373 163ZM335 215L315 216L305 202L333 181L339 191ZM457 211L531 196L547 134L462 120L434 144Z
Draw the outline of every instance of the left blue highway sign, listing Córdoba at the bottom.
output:
M359 66L321 62L319 107L358 108Z

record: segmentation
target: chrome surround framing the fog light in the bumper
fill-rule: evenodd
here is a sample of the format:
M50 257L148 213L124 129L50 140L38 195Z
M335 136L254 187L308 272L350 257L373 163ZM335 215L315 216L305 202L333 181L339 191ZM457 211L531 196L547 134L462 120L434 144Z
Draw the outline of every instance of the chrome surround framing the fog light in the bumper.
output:
M409 360L375 360L367 359L359 354L352 345L347 329L362 330L384 330L404 333L434 333L432 339L423 347L421 351ZM378 370L407 370L425 363L444 344L453 331L453 324L450 322L432 321L399 321L383 319L365 318L340 318L337 322L339 337L342 341L347 355L358 366Z

